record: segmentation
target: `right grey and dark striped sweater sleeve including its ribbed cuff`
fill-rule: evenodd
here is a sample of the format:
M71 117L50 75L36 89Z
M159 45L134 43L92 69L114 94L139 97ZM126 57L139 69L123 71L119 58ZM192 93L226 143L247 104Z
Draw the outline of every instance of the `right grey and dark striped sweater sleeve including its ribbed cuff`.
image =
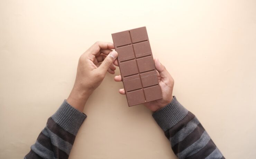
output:
M153 113L180 159L224 159L194 114L174 96L171 103Z

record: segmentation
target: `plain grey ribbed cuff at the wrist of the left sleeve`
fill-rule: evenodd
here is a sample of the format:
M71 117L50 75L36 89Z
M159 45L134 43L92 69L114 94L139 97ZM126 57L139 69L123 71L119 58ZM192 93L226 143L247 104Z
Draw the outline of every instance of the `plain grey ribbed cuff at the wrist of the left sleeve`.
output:
M84 113L81 113L68 104L66 100L64 100L60 108L52 115L52 119L58 125L73 135L77 134L86 117Z

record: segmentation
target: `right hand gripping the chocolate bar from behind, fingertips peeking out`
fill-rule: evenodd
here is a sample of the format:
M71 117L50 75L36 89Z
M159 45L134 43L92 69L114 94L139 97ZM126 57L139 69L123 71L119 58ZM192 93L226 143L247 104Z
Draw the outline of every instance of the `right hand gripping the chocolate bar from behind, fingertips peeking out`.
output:
M164 65L162 65L158 59L154 59L154 62L157 70L156 72L157 72L158 82L161 87L163 99L147 102L147 103L144 103L144 105L152 111L157 111L172 101L173 99L172 91L174 86L174 80L170 75L170 73L166 70ZM117 60L114 62L114 64L118 66ZM115 76L114 79L116 82L122 81L121 75ZM120 89L119 93L124 95L125 94L124 88Z

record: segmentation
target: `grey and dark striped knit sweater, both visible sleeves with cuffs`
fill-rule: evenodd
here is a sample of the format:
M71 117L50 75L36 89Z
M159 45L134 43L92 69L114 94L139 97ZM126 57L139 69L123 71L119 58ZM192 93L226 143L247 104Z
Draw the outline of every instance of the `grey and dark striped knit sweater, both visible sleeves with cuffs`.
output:
M171 148L178 158L224 159L199 120L175 96L171 103L152 115L170 140ZM60 108L47 120L46 127L24 159L67 159L85 118L84 113L64 100Z

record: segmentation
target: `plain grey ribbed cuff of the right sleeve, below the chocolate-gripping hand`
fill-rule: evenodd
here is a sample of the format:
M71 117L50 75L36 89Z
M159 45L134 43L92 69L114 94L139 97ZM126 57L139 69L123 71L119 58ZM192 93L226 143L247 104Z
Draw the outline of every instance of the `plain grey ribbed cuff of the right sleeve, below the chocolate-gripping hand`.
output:
M171 103L153 113L152 116L157 124L166 131L181 121L186 114L188 114L188 110L177 101L175 96L173 96Z

